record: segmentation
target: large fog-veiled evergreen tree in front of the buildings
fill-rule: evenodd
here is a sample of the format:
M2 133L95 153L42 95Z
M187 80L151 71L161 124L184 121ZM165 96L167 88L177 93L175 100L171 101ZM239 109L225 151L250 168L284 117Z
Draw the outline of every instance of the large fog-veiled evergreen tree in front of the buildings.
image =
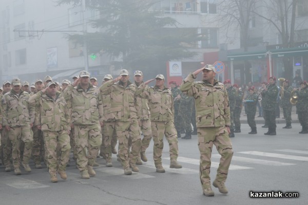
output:
M60 0L59 5L79 5L81 0ZM86 41L91 53L104 52L110 58L122 58L125 68L165 68L170 60L191 58L196 53L187 45L194 45L194 32L172 32L178 22L171 17L149 12L157 1L108 0L87 1L87 7L100 11L98 20L90 21L100 32L70 35L70 40ZM173 29L177 31L177 29ZM164 69L165 70L165 69Z

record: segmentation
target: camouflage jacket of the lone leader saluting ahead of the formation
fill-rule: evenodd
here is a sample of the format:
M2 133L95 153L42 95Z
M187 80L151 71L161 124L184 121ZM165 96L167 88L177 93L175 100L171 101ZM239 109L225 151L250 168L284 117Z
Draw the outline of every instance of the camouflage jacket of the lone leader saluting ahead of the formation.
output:
M180 86L182 92L195 98L197 127L220 127L230 125L228 93L224 85L214 80L194 82L192 73Z

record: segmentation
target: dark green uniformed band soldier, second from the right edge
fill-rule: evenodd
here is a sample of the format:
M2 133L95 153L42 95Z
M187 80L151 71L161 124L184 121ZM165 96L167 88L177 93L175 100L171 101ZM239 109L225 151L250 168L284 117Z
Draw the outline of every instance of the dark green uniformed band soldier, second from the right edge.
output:
M282 84L282 88L280 90L280 97L281 100L280 106L282 107L283 110L283 117L285 119L286 125L282 128L287 128L290 129L292 128L291 123L292 123L292 117L291 117L291 111L292 111L292 104L290 102L291 99L291 92L293 90L293 87L289 85L288 80L284 80Z

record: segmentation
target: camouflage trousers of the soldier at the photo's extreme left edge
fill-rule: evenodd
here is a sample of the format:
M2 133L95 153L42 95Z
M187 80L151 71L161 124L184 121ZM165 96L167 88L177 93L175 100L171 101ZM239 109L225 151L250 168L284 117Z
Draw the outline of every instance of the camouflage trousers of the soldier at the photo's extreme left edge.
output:
M5 166L10 165L12 157L12 143L9 139L9 133L8 131L5 130L4 127L2 128L1 132L1 144L2 144L1 157L3 160L3 164Z

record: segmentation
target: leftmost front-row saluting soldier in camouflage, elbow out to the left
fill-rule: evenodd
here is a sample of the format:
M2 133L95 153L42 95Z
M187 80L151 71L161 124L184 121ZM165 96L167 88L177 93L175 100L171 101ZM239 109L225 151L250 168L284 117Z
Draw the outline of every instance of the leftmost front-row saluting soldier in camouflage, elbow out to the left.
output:
M56 173L67 179L66 164L70 154L70 117L65 99L57 92L56 84L49 82L44 90L29 99L29 104L38 107L35 120L37 128L44 133L44 146L50 181L57 182ZM60 162L57 165L56 147L60 149Z

